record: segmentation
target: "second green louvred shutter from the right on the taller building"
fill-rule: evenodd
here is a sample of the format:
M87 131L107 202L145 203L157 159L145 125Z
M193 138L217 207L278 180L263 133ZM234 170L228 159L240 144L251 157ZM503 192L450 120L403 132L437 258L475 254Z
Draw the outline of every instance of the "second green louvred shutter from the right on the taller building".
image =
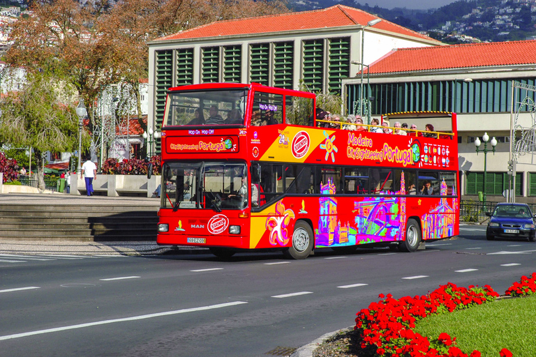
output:
M309 91L322 91L324 40L304 41L304 84Z

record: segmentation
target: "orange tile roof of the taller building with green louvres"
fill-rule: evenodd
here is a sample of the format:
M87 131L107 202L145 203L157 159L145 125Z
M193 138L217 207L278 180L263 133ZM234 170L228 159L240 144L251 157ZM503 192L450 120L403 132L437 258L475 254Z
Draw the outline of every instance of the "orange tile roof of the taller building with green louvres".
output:
M239 36L254 33L269 33L280 31L304 31L309 29L324 29L338 26L366 25L367 22L378 17L349 6L336 5L321 10L304 11L301 13L283 13L261 17L248 17L246 19L211 22L193 29L174 33L158 40L183 40L191 38L205 38L217 36ZM374 25L375 29L399 33L421 40L433 40L421 33L405 29L387 20Z

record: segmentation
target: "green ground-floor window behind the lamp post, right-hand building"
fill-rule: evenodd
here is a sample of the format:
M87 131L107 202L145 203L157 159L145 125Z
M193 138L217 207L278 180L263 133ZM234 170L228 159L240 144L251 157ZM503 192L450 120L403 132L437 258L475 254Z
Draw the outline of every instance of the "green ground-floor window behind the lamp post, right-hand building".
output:
M516 196L523 195L523 175L516 173ZM506 172L488 172L486 174L486 195L500 196L508 188L508 174ZM466 195L478 195L484 185L484 172L466 173ZM536 195L536 192L535 192Z

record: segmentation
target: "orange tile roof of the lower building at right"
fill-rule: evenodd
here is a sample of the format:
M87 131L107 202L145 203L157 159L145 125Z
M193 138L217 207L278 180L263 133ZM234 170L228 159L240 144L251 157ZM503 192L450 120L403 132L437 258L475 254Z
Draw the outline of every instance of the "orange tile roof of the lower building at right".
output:
M395 49L374 63L373 73L536 63L536 40ZM364 70L366 73L366 68Z

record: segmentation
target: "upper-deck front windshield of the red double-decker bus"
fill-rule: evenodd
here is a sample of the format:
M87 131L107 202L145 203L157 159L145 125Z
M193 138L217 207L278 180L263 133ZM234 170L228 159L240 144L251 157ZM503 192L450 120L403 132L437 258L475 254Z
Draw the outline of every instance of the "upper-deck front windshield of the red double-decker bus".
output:
M168 94L163 126L243 126L247 89Z

